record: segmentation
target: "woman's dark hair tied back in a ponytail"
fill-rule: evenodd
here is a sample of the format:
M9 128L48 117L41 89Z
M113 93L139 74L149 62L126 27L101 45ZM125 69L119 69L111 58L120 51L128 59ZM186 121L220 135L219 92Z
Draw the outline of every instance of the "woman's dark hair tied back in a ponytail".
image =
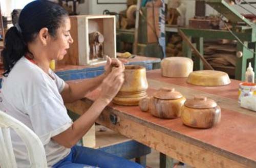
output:
M43 27L47 27L49 34L55 37L66 16L68 13L65 9L47 0L37 0L26 5L20 12L18 24L12 26L5 35L1 53L5 70L3 75L7 77L15 63L29 52L27 44L35 39Z

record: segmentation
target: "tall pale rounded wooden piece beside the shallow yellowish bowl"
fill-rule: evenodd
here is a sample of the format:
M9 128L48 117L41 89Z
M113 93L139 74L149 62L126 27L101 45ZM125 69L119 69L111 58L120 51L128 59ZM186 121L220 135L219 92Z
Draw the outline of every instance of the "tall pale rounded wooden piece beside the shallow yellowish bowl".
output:
M168 57L161 61L161 73L165 77L187 77L193 72L193 61L186 57Z

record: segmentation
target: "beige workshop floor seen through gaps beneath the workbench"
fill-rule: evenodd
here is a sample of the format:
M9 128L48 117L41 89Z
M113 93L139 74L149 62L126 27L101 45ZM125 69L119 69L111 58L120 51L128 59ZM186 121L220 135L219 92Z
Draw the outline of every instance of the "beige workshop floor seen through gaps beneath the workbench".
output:
M104 126L96 125L96 147L109 146L120 142L127 141L128 138L116 133ZM151 154L147 155L146 165L148 168L159 167L159 152L152 149ZM189 168L190 166L175 166L175 168Z

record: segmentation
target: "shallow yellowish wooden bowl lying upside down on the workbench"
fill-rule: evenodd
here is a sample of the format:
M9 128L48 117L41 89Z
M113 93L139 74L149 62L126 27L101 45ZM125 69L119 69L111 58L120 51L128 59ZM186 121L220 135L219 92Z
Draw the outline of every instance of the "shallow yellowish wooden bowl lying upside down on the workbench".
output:
M227 73L214 70L201 70L191 72L187 82L198 86L223 86L231 81Z

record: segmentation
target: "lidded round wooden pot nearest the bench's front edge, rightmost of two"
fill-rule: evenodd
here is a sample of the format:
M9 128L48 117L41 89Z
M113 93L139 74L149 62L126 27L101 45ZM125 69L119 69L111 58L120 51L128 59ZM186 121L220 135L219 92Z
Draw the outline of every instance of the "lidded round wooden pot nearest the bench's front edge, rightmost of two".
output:
M181 108L183 124L195 128L210 128L221 120L221 108L214 100L195 96L187 100Z

